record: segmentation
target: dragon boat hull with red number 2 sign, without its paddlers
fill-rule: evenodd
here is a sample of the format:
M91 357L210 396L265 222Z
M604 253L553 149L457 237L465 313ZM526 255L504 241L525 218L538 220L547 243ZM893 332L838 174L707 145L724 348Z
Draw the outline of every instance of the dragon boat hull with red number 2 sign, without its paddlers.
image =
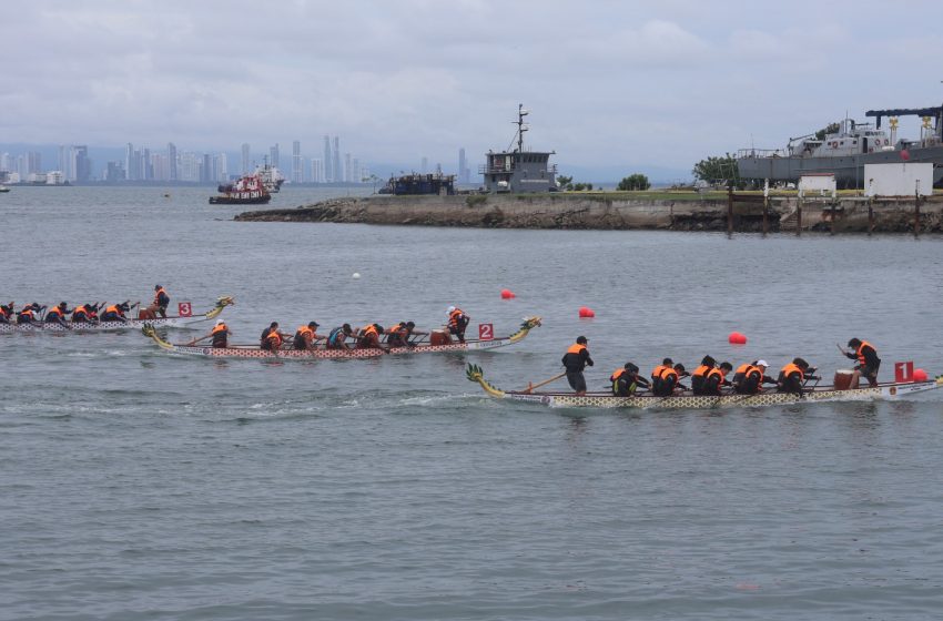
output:
M154 326L145 325L141 328L144 336L153 339L161 349L172 352L174 354L185 354L191 356L206 356L210 358L267 358L267 359L298 359L311 360L318 358L377 358L385 355L413 355L413 354L433 354L438 352L481 352L485 349L495 349L505 347L523 340L528 333L540 325L540 317L527 317L520 324L520 328L510 336L500 338L478 338L467 339L465 343L448 343L442 345L412 345L408 347L391 347L379 349L377 347L364 347L353 349L294 349L291 347L282 348L277 353L262 349L255 345L233 345L230 347L210 347L202 345L190 344L173 344L162 338ZM291 344L287 344L291 345Z

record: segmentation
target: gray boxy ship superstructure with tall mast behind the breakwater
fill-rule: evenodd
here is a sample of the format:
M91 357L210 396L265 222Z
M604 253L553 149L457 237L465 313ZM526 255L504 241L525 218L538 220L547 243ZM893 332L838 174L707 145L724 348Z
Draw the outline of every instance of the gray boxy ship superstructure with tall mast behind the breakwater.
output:
M478 172L484 176L488 193L551 192L557 190L557 165L550 164L555 151L528 151L524 147L524 133L530 126L524 118L530 112L524 104L517 106L517 146L505 151L488 151L487 163ZM514 141L511 141L514 145Z

